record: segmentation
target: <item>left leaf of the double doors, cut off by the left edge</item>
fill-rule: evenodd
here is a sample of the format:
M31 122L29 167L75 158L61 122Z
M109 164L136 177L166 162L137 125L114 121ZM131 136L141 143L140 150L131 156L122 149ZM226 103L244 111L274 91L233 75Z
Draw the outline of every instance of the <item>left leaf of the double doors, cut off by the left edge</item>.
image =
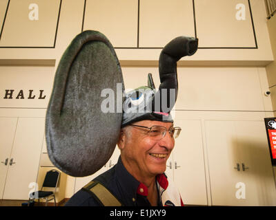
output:
M8 162L10 162L16 128L17 118L0 118L0 199L3 199Z

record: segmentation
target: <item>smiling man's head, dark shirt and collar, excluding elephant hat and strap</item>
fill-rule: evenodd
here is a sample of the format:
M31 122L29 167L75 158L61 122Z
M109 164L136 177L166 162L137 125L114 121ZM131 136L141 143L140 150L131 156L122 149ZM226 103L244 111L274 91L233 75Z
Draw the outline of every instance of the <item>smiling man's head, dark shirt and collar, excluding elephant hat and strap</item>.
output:
M124 126L117 143L121 151L118 163L94 181L103 184L124 206L183 206L179 192L171 182L168 184L164 174L180 131L172 122L157 120ZM66 203L66 206L101 205L85 188Z

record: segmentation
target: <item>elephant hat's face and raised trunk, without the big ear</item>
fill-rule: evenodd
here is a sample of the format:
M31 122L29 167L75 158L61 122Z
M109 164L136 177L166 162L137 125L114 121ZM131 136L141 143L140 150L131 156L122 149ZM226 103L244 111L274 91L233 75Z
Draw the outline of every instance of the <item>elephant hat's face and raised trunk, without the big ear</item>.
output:
M173 122L170 111L175 105L178 93L177 61L183 56L192 56L197 51L198 39L179 36L170 41L159 56L158 91L148 74L148 86L139 87L126 94L123 104L122 127L140 120Z

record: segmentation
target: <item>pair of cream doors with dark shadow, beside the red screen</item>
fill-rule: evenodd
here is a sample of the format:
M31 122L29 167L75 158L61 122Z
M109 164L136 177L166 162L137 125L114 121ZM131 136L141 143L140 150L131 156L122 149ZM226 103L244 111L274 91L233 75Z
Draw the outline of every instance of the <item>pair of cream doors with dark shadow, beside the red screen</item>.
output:
M275 206L264 122L206 120L206 142L213 206Z

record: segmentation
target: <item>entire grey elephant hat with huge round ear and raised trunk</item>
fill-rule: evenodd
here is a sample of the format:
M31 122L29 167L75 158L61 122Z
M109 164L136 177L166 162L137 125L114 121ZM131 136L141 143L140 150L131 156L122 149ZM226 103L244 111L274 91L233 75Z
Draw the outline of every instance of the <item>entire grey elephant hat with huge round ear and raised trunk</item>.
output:
M59 61L46 113L46 143L52 164L71 176L92 175L110 159L122 126L138 120L172 121L177 61L196 50L197 39L181 36L172 40L159 58L159 90L149 75L148 87L124 94L121 66L106 36L92 30L77 35ZM107 88L124 101L123 112L103 111L101 91ZM165 102L172 104L167 107Z

